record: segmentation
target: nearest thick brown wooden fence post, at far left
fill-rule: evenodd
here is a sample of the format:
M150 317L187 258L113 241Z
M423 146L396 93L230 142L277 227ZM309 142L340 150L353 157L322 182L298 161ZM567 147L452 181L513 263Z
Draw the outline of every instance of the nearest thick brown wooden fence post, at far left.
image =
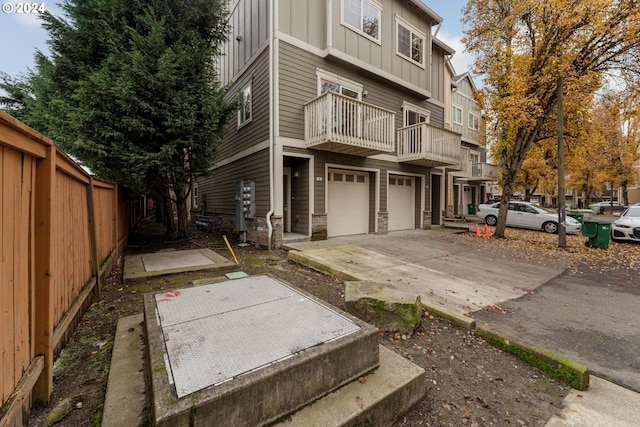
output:
M44 356L44 369L34 387L34 399L49 403L53 392L53 291L56 254L53 250L53 195L56 191L56 147L36 166L35 186L35 355Z

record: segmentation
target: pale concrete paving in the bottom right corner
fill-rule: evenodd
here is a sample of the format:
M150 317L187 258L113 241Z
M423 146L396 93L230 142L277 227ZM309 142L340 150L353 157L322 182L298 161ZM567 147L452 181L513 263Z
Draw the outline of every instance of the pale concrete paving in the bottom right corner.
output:
M598 377L591 377L588 391L573 390L563 400L560 414L545 427L637 427L640 394Z

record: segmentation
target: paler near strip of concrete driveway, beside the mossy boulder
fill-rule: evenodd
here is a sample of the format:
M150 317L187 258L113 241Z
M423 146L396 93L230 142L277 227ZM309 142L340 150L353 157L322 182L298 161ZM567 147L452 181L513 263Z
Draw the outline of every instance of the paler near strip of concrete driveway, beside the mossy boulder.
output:
M289 252L289 258L323 271L328 267L334 274L342 272L343 279L391 283L401 291L420 295L423 303L446 307L458 314L481 310L525 293L513 287L478 284L353 245Z

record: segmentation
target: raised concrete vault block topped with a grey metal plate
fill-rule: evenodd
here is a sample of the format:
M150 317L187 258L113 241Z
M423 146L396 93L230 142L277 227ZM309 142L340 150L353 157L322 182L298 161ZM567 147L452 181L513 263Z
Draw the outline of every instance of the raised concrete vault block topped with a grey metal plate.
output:
M262 425L379 361L376 328L270 276L145 295L145 326L157 426Z

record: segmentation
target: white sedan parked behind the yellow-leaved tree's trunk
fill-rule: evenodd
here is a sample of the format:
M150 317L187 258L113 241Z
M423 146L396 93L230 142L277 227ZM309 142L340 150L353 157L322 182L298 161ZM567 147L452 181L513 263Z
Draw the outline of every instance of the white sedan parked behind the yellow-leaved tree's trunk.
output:
M500 203L480 205L478 206L476 215L478 218L484 220L487 225L494 226L498 222L499 209ZM512 201L509 202L507 226L557 233L558 214L528 202ZM582 224L580 224L577 219L570 216L566 217L565 230L567 234L577 234L581 228Z

